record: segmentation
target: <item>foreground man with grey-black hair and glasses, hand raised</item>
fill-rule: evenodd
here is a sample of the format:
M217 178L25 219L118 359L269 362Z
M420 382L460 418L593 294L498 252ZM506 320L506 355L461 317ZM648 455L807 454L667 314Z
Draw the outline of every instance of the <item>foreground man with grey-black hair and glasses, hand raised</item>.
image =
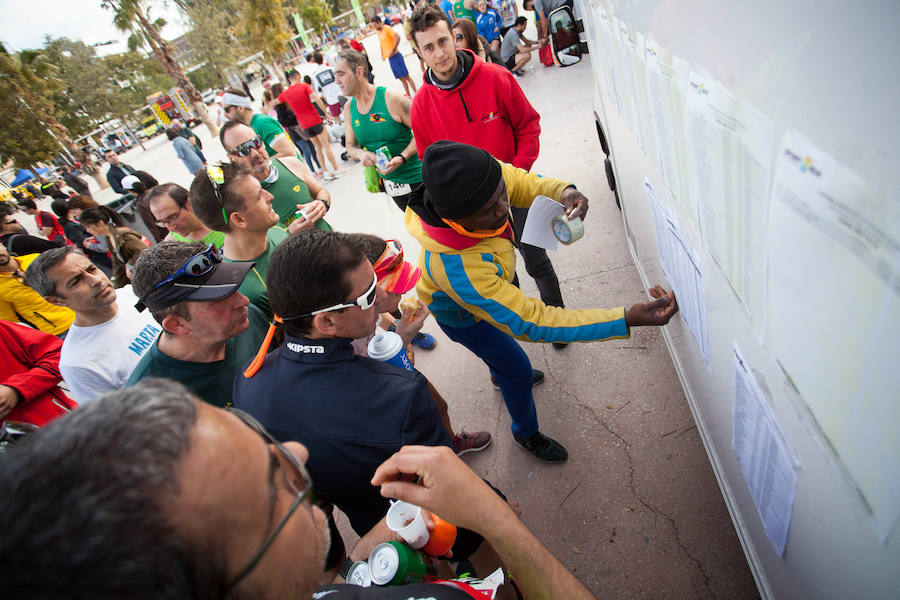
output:
M0 496L10 598L473 598L452 582L322 586L329 532L304 464L315 452L175 382L110 393L32 438L0 461L0 489L15 490ZM482 534L526 597L592 598L448 449L403 448L371 483ZM370 532L349 559L383 540Z

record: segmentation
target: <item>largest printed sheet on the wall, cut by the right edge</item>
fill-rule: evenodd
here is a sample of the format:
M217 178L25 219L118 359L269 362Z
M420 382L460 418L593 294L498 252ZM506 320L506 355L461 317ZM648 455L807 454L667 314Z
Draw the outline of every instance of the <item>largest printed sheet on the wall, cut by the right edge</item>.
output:
M884 542L900 518L900 205L796 132L775 165L769 347Z

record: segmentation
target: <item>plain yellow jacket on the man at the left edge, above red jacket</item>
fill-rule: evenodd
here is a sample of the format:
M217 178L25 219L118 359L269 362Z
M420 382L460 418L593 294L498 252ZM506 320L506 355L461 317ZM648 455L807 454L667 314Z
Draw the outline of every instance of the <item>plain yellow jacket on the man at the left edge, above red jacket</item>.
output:
M37 254L11 258L19 261L24 273ZM0 319L16 323L22 321L52 335L69 330L75 313L64 306L44 300L33 289L20 282L12 273L0 273Z

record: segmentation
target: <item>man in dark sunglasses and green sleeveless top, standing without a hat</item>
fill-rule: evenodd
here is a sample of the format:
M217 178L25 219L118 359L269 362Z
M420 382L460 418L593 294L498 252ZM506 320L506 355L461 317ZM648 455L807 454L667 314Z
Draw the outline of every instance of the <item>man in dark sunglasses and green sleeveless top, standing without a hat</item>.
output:
M238 121L225 123L219 130L219 139L228 152L228 160L248 170L272 194L272 207L282 227L299 221L297 230L331 230L324 218L331 208L331 194L296 156L270 158L256 132ZM302 210L302 216L298 210Z

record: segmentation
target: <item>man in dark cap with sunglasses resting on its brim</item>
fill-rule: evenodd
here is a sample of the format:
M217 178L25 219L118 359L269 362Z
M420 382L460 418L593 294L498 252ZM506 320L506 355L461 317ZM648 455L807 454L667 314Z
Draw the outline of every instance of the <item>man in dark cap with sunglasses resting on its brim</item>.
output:
M210 404L230 406L235 375L268 326L238 292L252 266L222 262L213 245L160 242L142 252L132 273L138 310L149 309L163 331L127 385L167 377Z

